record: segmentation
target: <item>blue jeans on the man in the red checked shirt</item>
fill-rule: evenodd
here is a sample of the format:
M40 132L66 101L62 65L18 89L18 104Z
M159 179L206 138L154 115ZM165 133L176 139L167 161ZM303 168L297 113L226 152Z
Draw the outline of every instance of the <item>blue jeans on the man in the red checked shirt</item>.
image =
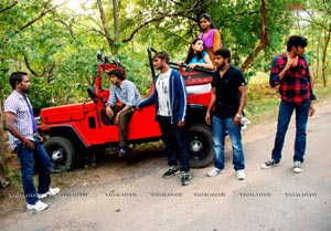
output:
M271 158L275 162L281 159L281 150L284 146L285 135L291 119L293 111L296 111L296 141L293 161L303 162L306 153L306 137L307 137L307 122L309 115L310 99L302 102L300 105L281 101L278 113L277 134L275 138L275 146L271 153Z

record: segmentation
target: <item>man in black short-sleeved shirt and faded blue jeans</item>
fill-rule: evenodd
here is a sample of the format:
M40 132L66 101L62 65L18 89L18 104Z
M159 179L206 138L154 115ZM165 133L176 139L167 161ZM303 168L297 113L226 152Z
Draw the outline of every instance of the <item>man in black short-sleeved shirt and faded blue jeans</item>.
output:
M233 165L238 180L245 179L245 158L242 144L242 126L244 106L246 104L246 82L244 74L237 67L229 65L231 53L222 48L214 53L217 66L213 76L212 98L205 120L213 126L214 167L207 172L215 177L224 172L224 139L226 130L233 148ZM213 115L211 115L212 109Z

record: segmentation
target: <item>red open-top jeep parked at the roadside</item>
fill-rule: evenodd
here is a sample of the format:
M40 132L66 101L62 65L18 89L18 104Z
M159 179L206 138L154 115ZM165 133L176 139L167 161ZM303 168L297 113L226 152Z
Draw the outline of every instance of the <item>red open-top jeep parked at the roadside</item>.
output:
M152 65L153 49L148 48L149 63L154 77ZM119 141L118 125L109 125L103 108L109 96L109 86L102 88L102 74L118 69L121 64L117 61L109 62L98 53L98 69L94 86L87 92L89 102L63 105L41 111L39 133L44 135L44 147L52 159L52 164L61 170L72 169L78 155L97 153L100 147L117 145ZM171 67L178 69L175 63ZM188 92L186 141L190 149L191 167L204 167L213 160L212 129L205 124L205 112L210 103L211 91L200 92L201 86L209 86L212 72L207 70L182 72ZM105 76L105 74L104 74ZM194 87L197 92L194 92ZM153 88L153 87L151 87ZM151 90L153 91L153 90ZM161 139L161 132L154 120L154 105L136 111L129 123L128 139L134 143L148 143Z

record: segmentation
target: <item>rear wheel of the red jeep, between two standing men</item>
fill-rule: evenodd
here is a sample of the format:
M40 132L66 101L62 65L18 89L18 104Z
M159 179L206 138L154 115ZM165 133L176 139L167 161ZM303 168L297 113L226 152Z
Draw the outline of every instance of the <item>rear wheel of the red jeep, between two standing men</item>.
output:
M186 129L186 143L192 168L202 168L213 161L213 132L209 126L199 124L189 127Z

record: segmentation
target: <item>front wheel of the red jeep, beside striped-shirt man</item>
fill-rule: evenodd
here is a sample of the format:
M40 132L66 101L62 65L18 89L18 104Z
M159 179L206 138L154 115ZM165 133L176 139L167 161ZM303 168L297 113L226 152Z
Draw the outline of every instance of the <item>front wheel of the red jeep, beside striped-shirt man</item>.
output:
M44 148L49 154L54 170L68 171L74 166L75 149L72 143L63 137L51 137Z

